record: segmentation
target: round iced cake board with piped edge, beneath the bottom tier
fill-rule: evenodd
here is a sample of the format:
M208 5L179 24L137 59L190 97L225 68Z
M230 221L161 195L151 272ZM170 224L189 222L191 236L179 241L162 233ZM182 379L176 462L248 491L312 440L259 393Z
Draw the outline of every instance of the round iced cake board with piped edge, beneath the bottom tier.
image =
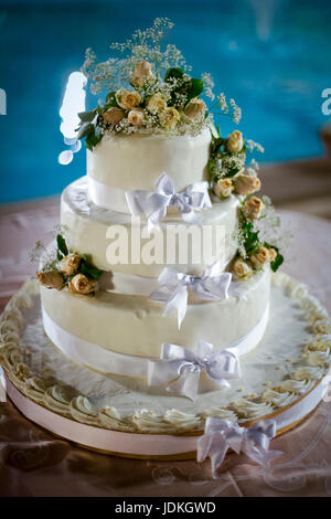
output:
M281 434L316 409L330 380L330 319L284 274L274 277L264 339L241 359L242 379L195 402L151 394L141 380L105 375L66 358L44 335L35 282L8 304L0 331L7 393L20 412L56 436L118 456L194 458L206 416L242 426L273 419Z

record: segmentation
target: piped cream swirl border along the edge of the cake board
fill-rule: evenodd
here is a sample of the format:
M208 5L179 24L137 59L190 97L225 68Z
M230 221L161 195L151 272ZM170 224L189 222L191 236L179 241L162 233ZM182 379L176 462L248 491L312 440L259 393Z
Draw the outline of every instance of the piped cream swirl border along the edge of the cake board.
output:
M62 416L96 427L136 433L188 434L204 428L207 416L217 416L248 423L278 414L307 395L325 375L331 364L331 319L320 301L309 295L305 285L284 273L273 275L274 285L281 287L305 310L314 338L302 348L300 367L290 379L266 389L260 395L241 399L227 407L212 407L204 413L189 414L168 410L158 415L149 410L137 410L134 415L121 415L111 406L97 409L86 396L57 383L51 383L32 372L26 364L29 351L21 348L22 310L33 306L39 294L34 279L28 280L8 303L0 324L0 362L9 380L25 396Z

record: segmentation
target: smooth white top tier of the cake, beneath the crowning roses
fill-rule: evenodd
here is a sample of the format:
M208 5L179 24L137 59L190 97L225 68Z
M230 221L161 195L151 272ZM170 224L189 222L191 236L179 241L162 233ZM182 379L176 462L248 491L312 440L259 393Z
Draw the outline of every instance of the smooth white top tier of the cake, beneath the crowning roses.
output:
M105 209L128 213L126 191L154 190L162 172L172 179L175 191L206 179L211 130L197 136L158 134L107 135L87 150L90 200Z

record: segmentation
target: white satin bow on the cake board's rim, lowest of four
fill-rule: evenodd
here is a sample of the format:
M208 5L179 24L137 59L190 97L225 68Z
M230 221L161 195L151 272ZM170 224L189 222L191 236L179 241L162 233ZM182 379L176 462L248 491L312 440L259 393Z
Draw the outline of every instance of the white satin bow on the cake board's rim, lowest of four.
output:
M275 436L274 420L261 420L250 427L241 427L228 420L207 417L204 435L196 443L196 459L201 463L210 457L214 479L217 479L217 468L228 448L236 454L245 453L259 465L268 465L274 457L282 454L281 451L269 451L270 439Z

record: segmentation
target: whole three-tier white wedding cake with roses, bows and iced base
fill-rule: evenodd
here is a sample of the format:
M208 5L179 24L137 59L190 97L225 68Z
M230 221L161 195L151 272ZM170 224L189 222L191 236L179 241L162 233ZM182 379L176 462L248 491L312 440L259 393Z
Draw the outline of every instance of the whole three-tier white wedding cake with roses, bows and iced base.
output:
M79 442L66 427L64 436L87 446L151 457L197 448L203 459L210 447L204 439L196 447L192 435L205 430L201 438L212 438L218 426L222 434L237 427L247 454L248 425L254 436L259 419L292 409L271 433L270 422L258 422L269 441L310 412L312 404L295 411L306 393L319 388L313 406L321 399L330 321L301 285L275 275L284 261L279 220L258 194L257 162L247 162L263 148L216 127L217 113L236 125L241 109L213 93L209 74L195 78L173 45L161 51L170 27L156 20L113 45L122 55L104 63L87 51L83 72L106 100L79 114L87 174L64 190L61 227L38 272L50 339L40 339L41 350L63 384L32 377L31 366L29 377L9 378L31 402L94 427L96 437L154 435L135 449L124 437ZM2 348L7 374L13 347ZM65 385L89 400L64 396Z

